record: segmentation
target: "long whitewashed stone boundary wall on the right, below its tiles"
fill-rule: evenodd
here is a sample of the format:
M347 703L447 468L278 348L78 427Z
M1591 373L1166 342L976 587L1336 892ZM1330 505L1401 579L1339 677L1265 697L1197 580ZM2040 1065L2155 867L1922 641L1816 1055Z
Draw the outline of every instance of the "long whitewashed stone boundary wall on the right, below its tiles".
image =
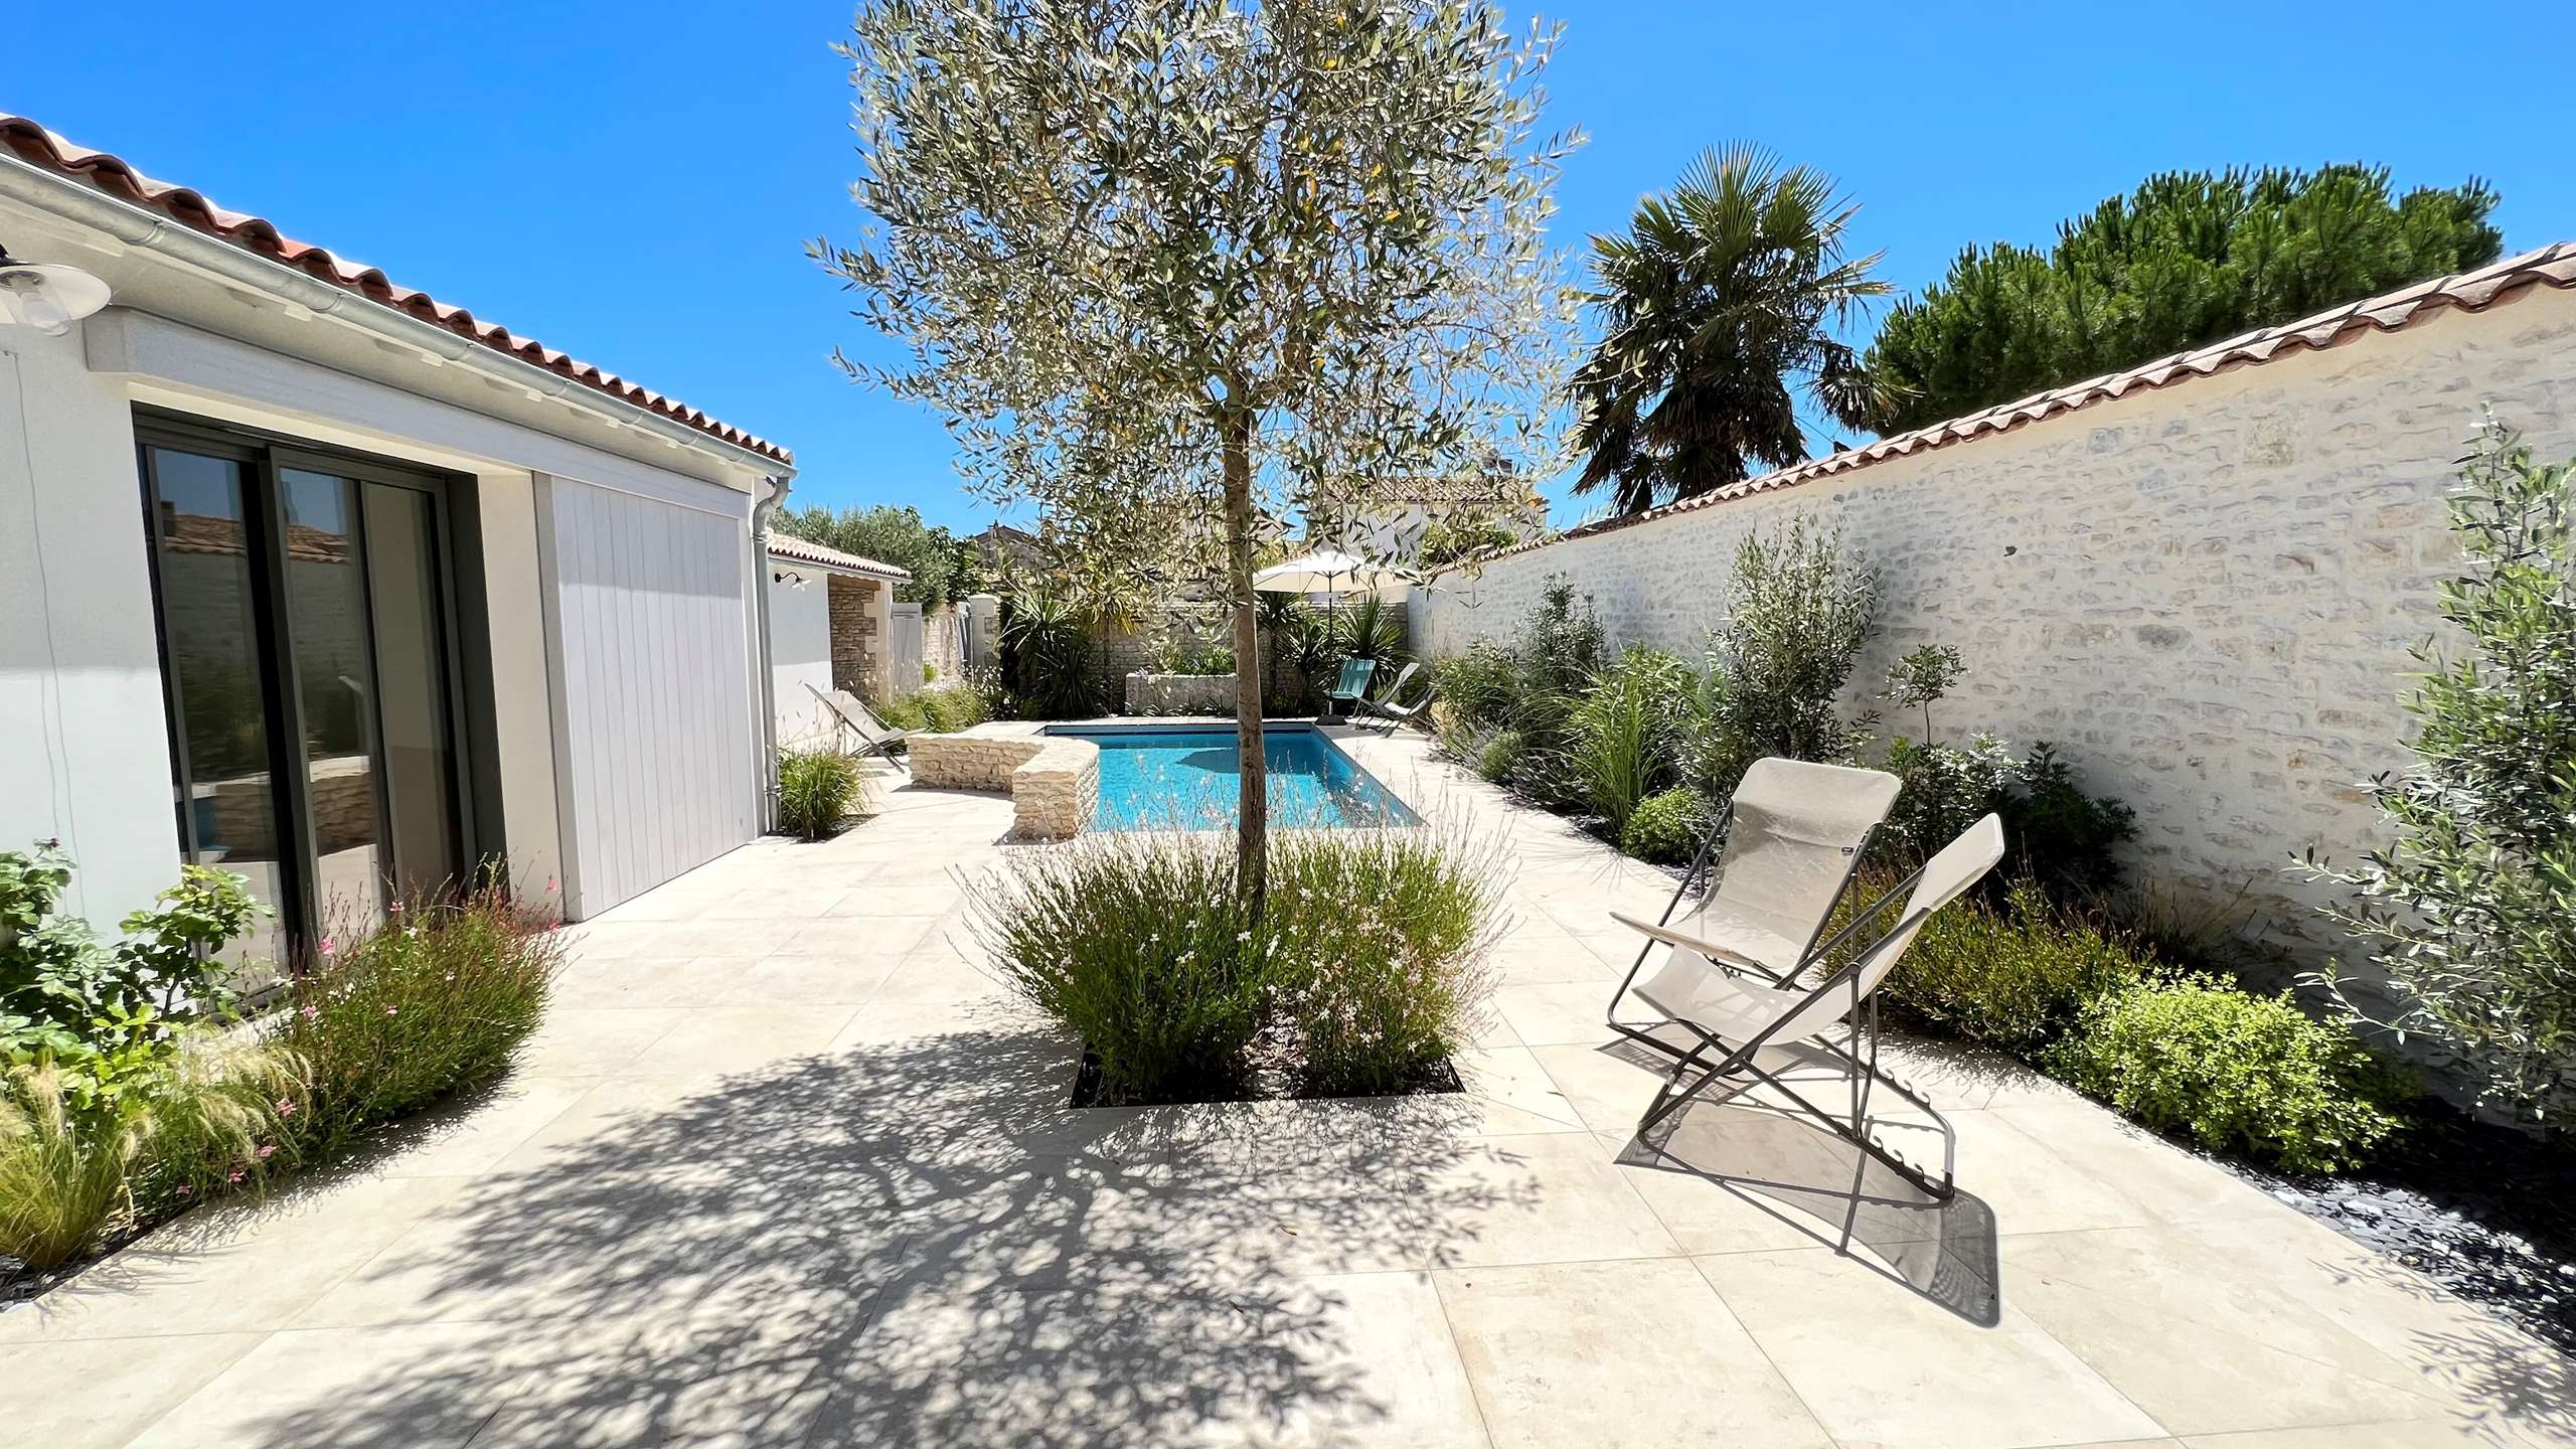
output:
M2143 874L2244 890L2251 928L2313 964L2347 944L2313 910L2331 892L2285 866L2385 843L2357 786L2409 763L2398 699L2458 567L2442 500L2481 402L2543 462L2576 456L2576 291L1507 554L1417 590L1414 639L1504 639L1564 575L1613 642L1700 657L1739 539L1839 526L1886 598L1852 709L1883 709L1896 655L1955 645L1942 740L2053 740L2138 810Z

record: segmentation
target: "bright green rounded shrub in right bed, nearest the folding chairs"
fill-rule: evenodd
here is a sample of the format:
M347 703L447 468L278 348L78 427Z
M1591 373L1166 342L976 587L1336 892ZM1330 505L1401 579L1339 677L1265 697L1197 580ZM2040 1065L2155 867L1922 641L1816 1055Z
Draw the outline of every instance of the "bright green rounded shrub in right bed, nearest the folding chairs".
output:
M2401 1127L2388 1067L2290 993L2133 985L2097 1000L2048 1060L2156 1132L2293 1173L2357 1168Z

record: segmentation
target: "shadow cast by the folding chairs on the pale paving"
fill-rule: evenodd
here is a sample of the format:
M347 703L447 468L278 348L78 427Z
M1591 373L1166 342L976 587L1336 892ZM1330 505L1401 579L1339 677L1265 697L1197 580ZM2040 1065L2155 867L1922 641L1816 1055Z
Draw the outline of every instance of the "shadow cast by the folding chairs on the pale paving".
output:
M1605 1052L1656 1073L1672 1065L1628 1042ZM1798 1088L1819 1104L1837 1101L1814 1083L1801 1080ZM1891 1129L1914 1140L1940 1137L1929 1122L1911 1116L1873 1122L1873 1129L1880 1137ZM1917 1142L1899 1150L1911 1160L1942 1160ZM1865 1248L1857 1263L1978 1328L2004 1320L1996 1220L1986 1199L1965 1186L1947 1201L1932 1199L1816 1119L1757 1101L1749 1091L1710 1088L1651 1134L1631 1137L1620 1163L1700 1178L1829 1248Z

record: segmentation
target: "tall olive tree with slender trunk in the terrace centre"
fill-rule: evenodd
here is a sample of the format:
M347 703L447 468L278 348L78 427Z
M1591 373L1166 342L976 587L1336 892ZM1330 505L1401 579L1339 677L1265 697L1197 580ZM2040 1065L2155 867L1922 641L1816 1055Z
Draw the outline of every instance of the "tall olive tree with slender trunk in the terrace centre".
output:
M909 353L842 366L969 490L1231 603L1255 902L1260 521L1543 451L1551 49L1463 0L863 0L842 46L868 227L817 255Z

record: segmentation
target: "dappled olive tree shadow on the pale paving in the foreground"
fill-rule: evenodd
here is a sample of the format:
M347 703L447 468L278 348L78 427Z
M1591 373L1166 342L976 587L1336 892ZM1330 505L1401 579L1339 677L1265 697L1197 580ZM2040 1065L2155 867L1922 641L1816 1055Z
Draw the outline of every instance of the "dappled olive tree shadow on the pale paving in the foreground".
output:
M976 1011L693 1088L605 1083L587 1129L541 1137L307 1315L453 1333L389 1341L255 1436L1401 1436L1401 1364L1352 1351L1401 1274L1316 1274L1440 1261L1535 1186L1473 1171L1497 1152L1455 1109L1064 1109L1066 1039Z

